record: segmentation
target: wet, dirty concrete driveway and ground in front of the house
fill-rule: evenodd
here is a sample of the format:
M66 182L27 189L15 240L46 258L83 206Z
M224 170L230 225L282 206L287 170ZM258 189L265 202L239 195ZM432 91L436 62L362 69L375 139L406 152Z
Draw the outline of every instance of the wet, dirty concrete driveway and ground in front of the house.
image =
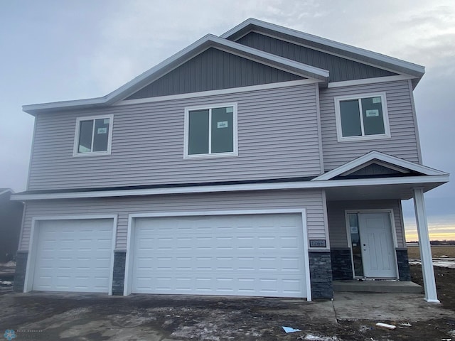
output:
M0 296L0 332L14 330L14 340L412 340L393 337L422 336L431 321L446 325L437 337L455 333L454 312L426 303L420 294L338 293L334 301L315 302L37 292ZM377 322L398 329L375 328ZM282 326L301 331L287 334ZM0 340L6 340L2 335Z

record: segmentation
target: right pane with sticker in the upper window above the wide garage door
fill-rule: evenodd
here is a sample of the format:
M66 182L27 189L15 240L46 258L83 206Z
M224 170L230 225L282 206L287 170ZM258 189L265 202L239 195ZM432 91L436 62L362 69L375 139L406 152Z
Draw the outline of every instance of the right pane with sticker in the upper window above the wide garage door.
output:
M212 109L212 153L234 151L234 108Z

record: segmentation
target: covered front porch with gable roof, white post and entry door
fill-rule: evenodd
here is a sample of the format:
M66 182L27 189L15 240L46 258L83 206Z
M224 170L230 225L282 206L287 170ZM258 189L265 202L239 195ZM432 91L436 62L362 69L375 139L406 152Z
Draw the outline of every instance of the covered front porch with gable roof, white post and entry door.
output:
M424 193L448 174L373 151L314 180L336 183L325 190L334 291L422 290L410 283L402 215L401 201L412 199L425 300L439 303Z

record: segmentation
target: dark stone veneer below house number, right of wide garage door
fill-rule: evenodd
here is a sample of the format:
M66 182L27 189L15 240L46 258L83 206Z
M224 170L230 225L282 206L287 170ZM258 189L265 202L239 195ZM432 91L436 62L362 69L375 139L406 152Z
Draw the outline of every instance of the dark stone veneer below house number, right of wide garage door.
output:
M333 298L330 252L309 252L311 296Z

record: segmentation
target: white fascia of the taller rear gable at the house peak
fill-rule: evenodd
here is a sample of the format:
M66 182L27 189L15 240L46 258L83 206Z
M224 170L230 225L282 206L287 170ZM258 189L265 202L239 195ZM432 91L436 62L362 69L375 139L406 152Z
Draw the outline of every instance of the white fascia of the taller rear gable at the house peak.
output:
M382 55L381 53L365 50L363 48L356 48L355 46L352 45L338 43L333 40L321 38L301 31L296 31L291 28L285 28L283 26L278 26L273 23L267 23L264 21L257 20L255 18L247 19L243 23L240 23L239 25L235 26L235 28L232 28L230 31L223 33L220 37L229 39L230 37L235 36L235 33L245 30L248 26L253 26L252 28L254 28L255 31L261 31L261 29L264 29L281 33L287 36L291 36L300 40L304 40L306 42L311 42L316 44L322 50L327 50L328 52L334 52L334 50L336 50L341 55L345 54L346 56L354 58L360 62L366 61L369 63L376 64L378 66L388 65L392 70L397 70L399 72L404 72L406 74L414 75L417 77L422 77L425 73L425 67L423 67L422 65L417 65L414 63L407 62L405 60L400 60L397 58L389 57L387 55ZM327 47L330 49L328 49Z

